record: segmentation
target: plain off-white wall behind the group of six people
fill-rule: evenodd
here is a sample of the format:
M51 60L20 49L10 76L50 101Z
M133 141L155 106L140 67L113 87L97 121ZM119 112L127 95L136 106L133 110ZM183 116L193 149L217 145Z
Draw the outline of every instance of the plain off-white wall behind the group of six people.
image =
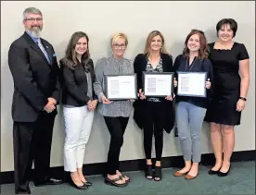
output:
M126 57L143 52L147 34L160 30L168 51L181 54L187 33L205 30L209 42L216 40L215 26L222 18L235 18L238 23L236 41L244 43L250 54L250 91L241 125L236 129L235 151L255 149L255 3L250 2L1 2L1 171L13 170L11 102L13 81L7 65L10 43L23 33L22 12L36 6L44 15L43 37L52 43L63 57L71 34L84 30L90 38L93 60L109 54L112 32L127 33L129 45ZM64 130L61 107L56 119L51 166L63 165ZM25 113L24 113L25 115ZM87 145L85 164L106 162L109 131L101 116L96 115ZM154 151L154 150L153 150ZM202 129L202 152L211 152L209 128ZM163 156L180 155L178 140L173 132L164 133ZM130 118L122 147L121 160L142 159L142 132Z

